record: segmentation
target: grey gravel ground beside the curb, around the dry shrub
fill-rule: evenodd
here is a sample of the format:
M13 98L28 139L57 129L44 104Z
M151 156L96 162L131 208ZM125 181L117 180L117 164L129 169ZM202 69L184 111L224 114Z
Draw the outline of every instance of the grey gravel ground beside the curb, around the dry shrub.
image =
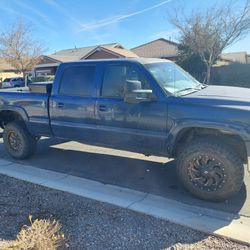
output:
M69 249L250 249L164 220L0 175L0 239L33 218L63 225Z

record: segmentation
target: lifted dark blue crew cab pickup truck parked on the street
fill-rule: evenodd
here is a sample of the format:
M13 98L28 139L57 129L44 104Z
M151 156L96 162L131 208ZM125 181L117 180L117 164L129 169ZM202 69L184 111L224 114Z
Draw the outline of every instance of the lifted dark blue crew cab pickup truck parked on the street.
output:
M53 83L2 90L0 121L16 159L41 136L167 156L184 187L212 201L240 191L250 160L250 89L205 86L161 59L62 63Z

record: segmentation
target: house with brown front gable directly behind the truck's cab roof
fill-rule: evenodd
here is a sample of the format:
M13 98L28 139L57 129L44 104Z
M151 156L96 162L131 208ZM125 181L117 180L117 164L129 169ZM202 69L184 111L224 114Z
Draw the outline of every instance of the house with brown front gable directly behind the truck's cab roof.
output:
M138 56L118 43L65 49L48 56L42 56L41 61L35 67L35 74L36 76L54 75L58 65L62 62L125 57Z

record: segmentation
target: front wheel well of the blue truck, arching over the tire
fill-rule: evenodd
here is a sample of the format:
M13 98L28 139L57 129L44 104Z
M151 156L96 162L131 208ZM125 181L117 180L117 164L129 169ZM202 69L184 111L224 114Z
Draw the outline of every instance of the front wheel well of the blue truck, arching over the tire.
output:
M207 128L187 128L181 130L175 140L173 156L176 157L186 143L189 143L190 141L195 140L196 138L206 136L216 136L217 139L224 141L237 152L237 154L245 163L247 162L246 146L240 136L231 134L227 131Z

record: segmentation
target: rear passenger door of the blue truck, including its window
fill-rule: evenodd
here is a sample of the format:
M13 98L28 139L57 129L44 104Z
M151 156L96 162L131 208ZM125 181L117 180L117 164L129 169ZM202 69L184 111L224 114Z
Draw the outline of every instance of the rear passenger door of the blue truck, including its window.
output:
M69 64L51 96L50 118L56 137L88 142L95 140L95 81L93 64Z

